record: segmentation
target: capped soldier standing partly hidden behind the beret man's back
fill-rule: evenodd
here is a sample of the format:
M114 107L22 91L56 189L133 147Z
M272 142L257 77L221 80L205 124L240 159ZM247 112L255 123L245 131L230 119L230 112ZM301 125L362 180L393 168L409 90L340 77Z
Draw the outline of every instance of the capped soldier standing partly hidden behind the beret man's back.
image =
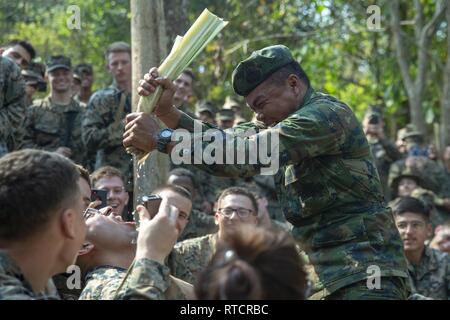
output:
M402 158L395 144L384 136L384 122L381 113L374 108L366 111L363 119L363 130L369 142L370 151L375 159L375 165L380 176L386 200L391 199L389 186L387 184L389 167Z

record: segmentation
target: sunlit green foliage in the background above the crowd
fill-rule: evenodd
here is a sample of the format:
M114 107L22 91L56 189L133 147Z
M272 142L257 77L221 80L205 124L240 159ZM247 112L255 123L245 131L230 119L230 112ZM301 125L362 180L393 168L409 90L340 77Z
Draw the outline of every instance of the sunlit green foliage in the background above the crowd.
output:
M130 41L128 0L71 1L81 9L81 30L69 30L68 1L0 0L0 41L26 38L42 59L64 53L74 64L94 65L96 88L107 85L103 52L118 40ZM429 20L434 1L421 1L424 18ZM389 30L388 0L376 1L381 8L381 30L367 28L369 0L191 0L190 23L204 8L230 21L222 33L194 61L198 74L195 98L223 105L233 95L231 73L240 60L255 49L285 44L309 74L317 90L336 95L347 102L359 117L369 105L381 106L391 132L406 124L407 97L396 61ZM414 20L414 6L403 1L402 20ZM170 21L167 21L170 24ZM428 83L424 110L431 123L439 119L440 87L446 58L445 25L431 43ZM186 31L186 30L185 30ZM408 54L417 55L414 25L402 27ZM416 72L410 64L411 74ZM241 99L241 101L243 101Z

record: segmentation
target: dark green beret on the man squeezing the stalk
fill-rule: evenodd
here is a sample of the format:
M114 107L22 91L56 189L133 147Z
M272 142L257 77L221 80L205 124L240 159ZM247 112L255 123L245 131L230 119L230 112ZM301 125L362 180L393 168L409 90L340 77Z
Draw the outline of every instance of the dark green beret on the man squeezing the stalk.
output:
M294 61L289 48L283 45L254 51L234 69L231 78L233 89L238 95L247 96L272 73Z

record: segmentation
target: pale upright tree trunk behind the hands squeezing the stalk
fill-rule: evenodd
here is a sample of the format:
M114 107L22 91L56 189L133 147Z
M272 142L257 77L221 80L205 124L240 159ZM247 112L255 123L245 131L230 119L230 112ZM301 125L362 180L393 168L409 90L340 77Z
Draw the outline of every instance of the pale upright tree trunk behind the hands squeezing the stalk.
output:
M167 56L164 1L131 0L131 15L133 110L136 111L139 80L151 67L159 66ZM163 127L162 123L160 126ZM135 206L143 195L151 194L166 182L169 167L169 157L157 151L153 151L142 165L134 160Z

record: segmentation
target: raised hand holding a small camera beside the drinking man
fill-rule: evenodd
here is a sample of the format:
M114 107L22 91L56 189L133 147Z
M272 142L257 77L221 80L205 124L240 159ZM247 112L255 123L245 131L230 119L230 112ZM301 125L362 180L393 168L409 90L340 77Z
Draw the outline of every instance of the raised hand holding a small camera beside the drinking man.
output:
M144 206L137 206L136 211L140 217L136 259L147 258L163 264L177 242L177 208L169 205L167 199L163 198L153 219Z

